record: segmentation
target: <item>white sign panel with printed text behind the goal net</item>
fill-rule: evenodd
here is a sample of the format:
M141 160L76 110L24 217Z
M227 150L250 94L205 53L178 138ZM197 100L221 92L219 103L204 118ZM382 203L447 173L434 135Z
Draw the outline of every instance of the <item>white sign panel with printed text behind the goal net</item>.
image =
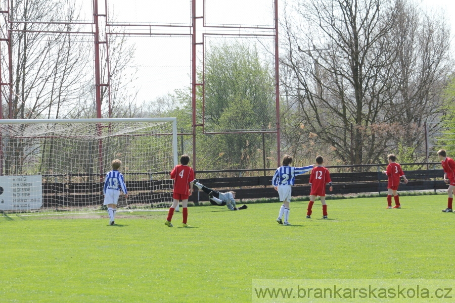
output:
M0 177L0 210L35 210L42 206L42 178L38 176Z

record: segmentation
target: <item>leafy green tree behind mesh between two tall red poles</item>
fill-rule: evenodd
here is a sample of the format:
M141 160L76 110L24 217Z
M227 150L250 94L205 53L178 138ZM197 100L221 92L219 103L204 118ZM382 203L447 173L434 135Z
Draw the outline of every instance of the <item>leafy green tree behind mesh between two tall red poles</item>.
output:
M210 169L257 168L275 146L266 135L276 125L274 74L257 48L240 41L209 45L205 55L205 129L235 131L198 139L198 158ZM265 137L264 137L265 139ZM200 162L199 162L200 163ZM203 165L200 163L200 165Z

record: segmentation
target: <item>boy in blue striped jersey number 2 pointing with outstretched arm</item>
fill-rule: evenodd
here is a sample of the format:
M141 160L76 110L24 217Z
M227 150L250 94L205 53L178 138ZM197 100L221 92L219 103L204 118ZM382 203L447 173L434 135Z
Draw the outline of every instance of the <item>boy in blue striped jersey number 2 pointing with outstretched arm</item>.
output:
M292 157L285 155L283 157L283 166L279 167L274 177L272 178L272 185L280 195L280 201L283 205L280 208L280 214L278 215L277 222L283 225L291 225L289 223L289 203L291 202L291 186L294 185L295 176L309 172L314 165L305 167L293 167ZM283 223L282 217L284 215L285 222Z

